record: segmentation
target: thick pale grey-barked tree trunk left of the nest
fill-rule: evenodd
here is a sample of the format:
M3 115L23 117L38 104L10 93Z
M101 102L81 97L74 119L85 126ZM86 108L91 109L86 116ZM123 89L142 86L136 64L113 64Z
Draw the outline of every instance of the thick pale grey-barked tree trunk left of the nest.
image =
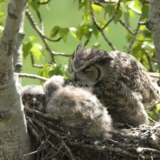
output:
M10 1L0 41L0 160L31 159L25 156L30 150L30 140L13 67L26 3L27 0Z

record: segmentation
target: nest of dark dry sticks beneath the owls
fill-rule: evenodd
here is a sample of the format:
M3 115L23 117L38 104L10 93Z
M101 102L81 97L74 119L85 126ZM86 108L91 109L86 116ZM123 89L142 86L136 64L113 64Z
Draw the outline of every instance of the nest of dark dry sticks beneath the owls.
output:
M35 160L159 160L160 123L115 129L111 139L71 135L51 115L25 108Z

